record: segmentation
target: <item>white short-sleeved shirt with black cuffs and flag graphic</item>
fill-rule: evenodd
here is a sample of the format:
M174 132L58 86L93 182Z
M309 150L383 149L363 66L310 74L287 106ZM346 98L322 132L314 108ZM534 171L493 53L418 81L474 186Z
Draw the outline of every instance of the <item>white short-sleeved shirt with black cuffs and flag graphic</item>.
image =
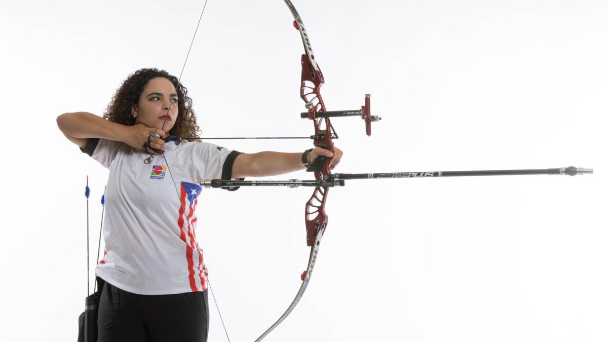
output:
M206 290L207 268L196 240L198 183L230 179L238 152L205 142L169 142L164 155L145 164L148 155L123 142L92 142L83 152L110 170L106 253L95 276L140 295Z

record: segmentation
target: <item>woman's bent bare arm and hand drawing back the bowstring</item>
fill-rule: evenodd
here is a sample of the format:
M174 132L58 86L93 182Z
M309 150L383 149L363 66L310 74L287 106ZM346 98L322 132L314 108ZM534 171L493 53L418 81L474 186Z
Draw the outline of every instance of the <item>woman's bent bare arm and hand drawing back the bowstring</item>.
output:
M91 138L103 138L122 141L131 147L143 148L143 143L150 139L150 145L159 150L165 150L165 141L150 138L148 133L156 132L165 136L165 132L157 128L146 127L142 124L126 126L103 119L92 113L78 111L65 113L57 117L57 126L66 138L74 144L85 148ZM154 155L158 153L154 152Z

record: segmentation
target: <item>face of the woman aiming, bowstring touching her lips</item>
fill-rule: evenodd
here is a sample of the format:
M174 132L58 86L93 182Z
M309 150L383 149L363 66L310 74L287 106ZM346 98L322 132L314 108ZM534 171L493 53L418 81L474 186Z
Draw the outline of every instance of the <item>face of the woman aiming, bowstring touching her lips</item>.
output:
M135 124L159 128L165 133L170 131L178 118L178 94L173 83L164 77L151 79L139 95L132 114Z

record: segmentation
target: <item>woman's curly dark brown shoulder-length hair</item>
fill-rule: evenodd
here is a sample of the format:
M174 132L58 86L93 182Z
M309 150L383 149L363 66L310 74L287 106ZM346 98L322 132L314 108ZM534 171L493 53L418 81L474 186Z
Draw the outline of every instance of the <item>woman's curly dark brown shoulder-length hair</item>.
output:
M188 96L188 89L179 83L177 77L156 68L139 69L129 75L117 89L116 94L112 96L108 108L103 113L103 118L118 124L133 126L135 118L131 115L131 110L137 104L143 88L156 77L164 77L169 80L178 93L178 118L171 128L171 135L179 138L198 138L201 130L196 124L196 116L192 109L192 99Z

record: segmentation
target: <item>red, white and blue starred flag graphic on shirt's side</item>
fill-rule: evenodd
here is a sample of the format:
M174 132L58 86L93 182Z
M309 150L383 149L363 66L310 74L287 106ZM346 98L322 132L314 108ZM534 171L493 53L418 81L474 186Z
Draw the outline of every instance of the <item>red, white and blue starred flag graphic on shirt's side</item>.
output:
M185 258L188 267L188 281L190 290L204 291L207 288L207 268L202 260L202 249L196 242L196 203L202 188L198 184L181 183L181 194L179 200L178 227L180 229L180 239L185 244Z

